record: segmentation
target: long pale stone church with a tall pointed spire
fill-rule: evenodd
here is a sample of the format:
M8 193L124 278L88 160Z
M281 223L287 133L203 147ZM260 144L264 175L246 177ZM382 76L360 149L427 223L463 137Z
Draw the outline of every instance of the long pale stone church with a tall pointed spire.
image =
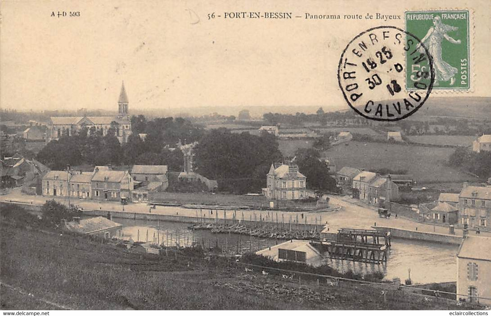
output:
M121 92L118 100L117 116L53 116L48 121L46 131L46 144L51 140L58 140L61 135L68 133L69 136L76 134L83 127L89 130L95 127L97 131L105 136L108 133L111 123L116 122L116 136L120 143L126 143L131 135L131 121L128 116L128 96L124 87L121 85Z

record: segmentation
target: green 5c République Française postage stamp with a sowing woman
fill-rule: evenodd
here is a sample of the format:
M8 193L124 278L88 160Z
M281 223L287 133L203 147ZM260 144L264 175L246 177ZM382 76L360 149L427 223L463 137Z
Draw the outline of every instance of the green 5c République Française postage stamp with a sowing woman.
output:
M470 89L470 39L469 11L409 11L406 12L406 31L420 40L416 50L426 47L433 58L435 82L433 89ZM406 87L429 76L429 69L423 69L417 58L406 54Z

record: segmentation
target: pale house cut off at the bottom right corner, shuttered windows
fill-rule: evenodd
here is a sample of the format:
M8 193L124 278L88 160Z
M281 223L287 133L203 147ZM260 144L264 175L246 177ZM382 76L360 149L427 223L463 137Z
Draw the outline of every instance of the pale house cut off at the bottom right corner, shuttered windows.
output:
M491 306L490 298L491 238L466 237L457 253L457 300Z

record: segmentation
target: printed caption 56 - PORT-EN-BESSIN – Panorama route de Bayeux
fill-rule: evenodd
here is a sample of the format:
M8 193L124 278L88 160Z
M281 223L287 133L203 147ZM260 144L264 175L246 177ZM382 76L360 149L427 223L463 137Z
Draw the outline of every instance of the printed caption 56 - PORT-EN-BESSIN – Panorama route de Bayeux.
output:
M294 14L293 12L210 12L208 20L211 19L306 19L306 20L401 20L401 15L387 15L382 13L366 13L366 14Z

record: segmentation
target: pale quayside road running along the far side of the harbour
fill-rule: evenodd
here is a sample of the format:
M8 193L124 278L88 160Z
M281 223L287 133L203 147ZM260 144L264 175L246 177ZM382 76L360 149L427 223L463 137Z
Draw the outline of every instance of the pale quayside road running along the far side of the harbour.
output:
M16 188L10 191L6 195L1 195L1 201L16 201L30 203L33 205L42 205L46 200L52 199L53 197L45 196L33 196L21 194L20 189ZM58 202L68 204L68 198L55 198ZM127 212L137 212L146 213L150 211L150 207L146 203L130 203L128 205L121 205L118 202L109 201L93 201L93 200L82 200L82 199L71 199L72 204L76 204L82 209L86 210L107 210L107 211L127 211ZM356 203L356 204L355 204ZM309 212L292 212L292 211L258 211L258 210L245 210L245 211L221 211L221 210L208 210L206 206L203 206L202 211L195 209L185 209L181 207L164 207L157 206L152 209L152 213L156 214L167 214L167 215L181 215L181 216L204 216L215 218L216 212L218 212L218 218L223 218L224 212L227 219L233 217L235 212L236 218L241 219L254 219L264 218L264 220L276 221L276 216L278 221L281 222L282 218L285 223L291 221L296 223L307 224L325 224L329 228L329 231L336 232L339 228L359 228L359 229L370 229L372 226L388 226L400 229L417 230L422 232L435 232L437 234L448 234L448 227L435 226L431 224L417 223L406 218L394 218L389 219L380 218L378 212L375 208L370 206L360 206L360 202L348 196L330 196L329 204L331 206L340 206L339 211L309 211ZM212 213L213 212L213 213ZM202 214L202 215L201 215ZM302 217L303 215L303 217ZM297 219L298 218L298 219ZM456 235L462 236L462 230L456 229ZM472 234L472 232L471 232ZM491 233L482 232L481 236L491 237Z

